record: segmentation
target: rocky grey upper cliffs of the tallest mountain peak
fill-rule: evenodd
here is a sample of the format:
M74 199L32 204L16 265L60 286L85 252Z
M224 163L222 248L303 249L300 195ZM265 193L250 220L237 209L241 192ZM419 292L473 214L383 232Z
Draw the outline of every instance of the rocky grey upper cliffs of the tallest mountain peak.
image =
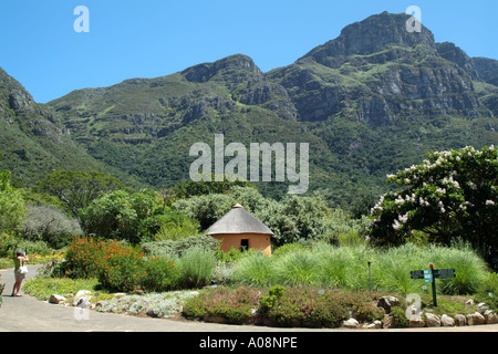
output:
M382 13L274 70L301 121L345 116L373 127L400 118L491 114L479 102L473 61L453 43L436 44L425 27L406 31L405 14Z

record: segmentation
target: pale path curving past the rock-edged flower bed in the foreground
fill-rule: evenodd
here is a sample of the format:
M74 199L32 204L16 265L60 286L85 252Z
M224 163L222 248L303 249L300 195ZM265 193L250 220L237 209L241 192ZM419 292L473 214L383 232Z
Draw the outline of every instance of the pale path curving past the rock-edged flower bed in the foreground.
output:
M27 279L34 278L37 266L30 267ZM211 324L193 321L134 317L127 315L83 312L75 308L49 304L30 295L12 298L12 269L0 271L6 283L0 308L0 332L345 332L345 330L276 329L253 325ZM365 332L365 330L359 330ZM498 325L440 329L375 330L375 332L498 332Z

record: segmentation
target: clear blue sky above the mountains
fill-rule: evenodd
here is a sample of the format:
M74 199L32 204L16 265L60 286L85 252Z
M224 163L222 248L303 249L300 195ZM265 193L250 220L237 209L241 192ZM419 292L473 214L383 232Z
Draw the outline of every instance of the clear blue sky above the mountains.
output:
M77 6L90 10L89 33L74 31ZM352 22L409 6L437 42L498 59L496 0L1 0L0 66L40 103L236 53L266 72Z

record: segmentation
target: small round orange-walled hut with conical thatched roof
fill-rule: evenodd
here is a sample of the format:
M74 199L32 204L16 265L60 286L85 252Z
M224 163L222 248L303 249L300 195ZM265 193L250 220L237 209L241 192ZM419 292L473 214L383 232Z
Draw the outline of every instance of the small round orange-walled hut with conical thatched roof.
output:
M221 240L220 248L225 252L231 248L239 250L251 248L271 254L270 238L273 232L239 204L216 221L209 228L208 235Z

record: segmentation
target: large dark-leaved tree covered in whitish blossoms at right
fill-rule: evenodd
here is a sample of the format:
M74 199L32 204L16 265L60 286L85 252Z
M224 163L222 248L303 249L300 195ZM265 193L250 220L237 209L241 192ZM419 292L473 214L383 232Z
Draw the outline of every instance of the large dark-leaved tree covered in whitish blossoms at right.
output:
M432 153L388 180L401 187L372 208L372 240L401 244L414 230L449 244L469 241L488 260L498 252L498 154L494 145L476 150Z

